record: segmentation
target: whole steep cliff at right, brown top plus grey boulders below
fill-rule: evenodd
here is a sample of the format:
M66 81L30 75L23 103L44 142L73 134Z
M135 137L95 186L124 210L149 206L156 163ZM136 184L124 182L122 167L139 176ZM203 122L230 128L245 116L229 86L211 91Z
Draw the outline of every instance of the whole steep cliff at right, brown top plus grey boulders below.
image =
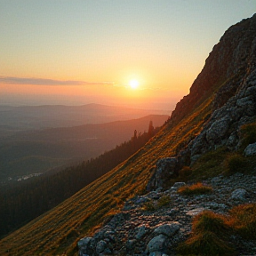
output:
M256 14L228 28L213 47L188 96L177 104L171 122L186 116L212 94L212 114L203 131L181 155L193 164L206 151L240 147L239 129L256 116ZM181 163L182 165L182 163Z

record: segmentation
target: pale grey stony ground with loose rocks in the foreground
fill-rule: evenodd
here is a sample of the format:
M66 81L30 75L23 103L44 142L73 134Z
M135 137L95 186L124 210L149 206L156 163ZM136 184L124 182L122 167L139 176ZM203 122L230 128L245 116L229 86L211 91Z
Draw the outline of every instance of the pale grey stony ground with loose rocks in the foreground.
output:
M178 182L165 191L133 197L94 236L78 242L79 256L176 256L176 247L188 238L196 214L204 210L228 214L237 204L256 203L255 175L220 175L203 182L212 186L210 195L181 196L177 189L186 184ZM143 207L147 202L157 205L163 196L170 197L168 204L154 211ZM232 239L237 255L256 254L256 241L246 241L237 235Z

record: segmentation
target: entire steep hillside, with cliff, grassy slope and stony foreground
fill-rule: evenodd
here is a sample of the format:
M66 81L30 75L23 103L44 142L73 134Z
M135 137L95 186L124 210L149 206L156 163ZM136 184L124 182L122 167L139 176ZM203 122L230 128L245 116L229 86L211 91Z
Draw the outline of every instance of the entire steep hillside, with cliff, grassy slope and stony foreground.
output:
M243 187L240 189L244 189L244 194L238 189L234 195L233 190L239 184L238 179L244 182L245 186L250 184L250 180L255 180L255 177L251 177L256 171L256 159L253 155L256 154L256 124L253 123L256 116L255 81L256 14L251 19L242 20L228 28L205 61L205 66L188 96L180 100L172 112L171 120L144 148L51 212L5 237L0 242L1 255L77 255L76 243L83 236L88 237L78 243L80 255L99 255L100 252L105 255L176 255L173 248L177 247L178 242L188 238L191 231L191 218L189 219L188 215L193 216L196 210L198 213L202 208L208 209L210 206L205 206L208 199L212 201L211 209L215 208L220 213L227 213L237 202L253 203L255 195L251 190L249 193ZM243 152L247 157L241 154ZM161 160L165 157L168 158ZM233 160L228 157L233 157ZM163 162L167 165L165 169ZM245 172L244 169L248 177L243 173L236 173L227 180L223 175L212 179L222 172L232 174L235 170ZM175 181L190 180L192 183L202 177L211 179L211 183L214 183L216 188L213 185L212 187L217 192L213 192L213 196L182 197L177 194L177 188L184 183L172 186ZM254 181L252 183L253 190L256 186ZM211 191L210 188L205 188L204 184L196 186L204 188L200 190L201 193L202 190ZM146 188L156 190L146 194ZM163 189L164 192L161 192ZM191 188L187 190L190 191ZM249 196L246 196L246 193ZM146 195L138 196L141 194ZM221 195L224 196L220 198ZM227 204L226 196L231 196ZM238 197L243 200L236 201ZM125 204L122 209L127 199L130 199L130 203ZM161 208L164 206L167 208ZM200 207L201 210L198 211ZM254 208L250 207L252 212ZM122 213L112 218L113 214L121 209ZM187 214L188 210L192 212ZM234 212L237 210L233 210L235 215ZM228 226L225 226L224 220L221 219L224 217L220 218L218 215L218 219L211 214L213 213L206 217L212 218L213 224L215 219L218 220L216 223L220 223L220 228L224 227L223 230L235 226L237 229L239 223L235 223L236 218L230 219L228 224L226 223ZM174 220L176 222L173 222ZM163 223L165 226L160 225ZM180 227L181 225L183 226ZM188 254L189 246L195 241L193 252L197 255L236 255L236 248L231 248L231 245L229 248L229 243L236 245L239 239L245 244L243 248L246 248L242 235L233 236L235 242L229 241L229 233L225 237L214 233L219 226L214 232L206 227L211 232L202 231L203 235L208 237L208 240L205 240L205 236L198 231L204 223L193 225L192 233L195 234L180 249L182 254ZM101 226L104 228L89 237ZM204 226L202 229L205 231ZM237 230L239 231L239 228ZM175 234L177 236L174 236ZM201 240L198 237L201 237ZM213 244L214 252L211 251L212 248L209 249L211 253L200 251L200 243L211 244L212 241L217 241L217 245ZM253 243L252 247L255 245ZM241 253L240 255L244 255Z

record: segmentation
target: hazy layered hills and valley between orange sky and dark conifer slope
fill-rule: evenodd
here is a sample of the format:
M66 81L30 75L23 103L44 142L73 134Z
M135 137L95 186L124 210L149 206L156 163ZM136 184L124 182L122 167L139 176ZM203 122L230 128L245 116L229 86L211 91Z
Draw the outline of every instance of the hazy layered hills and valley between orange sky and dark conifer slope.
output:
M130 108L127 108L125 111L125 109L122 108L98 106L95 104L87 106L86 111L85 107L81 107L84 112L82 113L81 110L81 112L78 111L78 113L76 113L76 116L73 115L73 118L76 118L76 122L71 122L70 116L72 116L71 113L73 112L69 110L69 114L67 113L65 118L66 123L69 125L72 124L72 126L54 127L57 123L53 122L52 128L44 128L44 118L42 116L50 111L50 115L46 115L47 118L51 119L55 116L54 118L57 119L58 111L53 111L52 113L51 110L56 110L60 107L44 106L42 108L44 111L42 111L40 107L28 107L25 108L27 110L24 112L18 108L21 114L19 116L20 119L18 118L16 121L12 116L15 111L8 115L2 112L2 117L5 115L5 121L4 118L1 120L2 124L7 122L6 116L8 116L8 118L13 118L13 126L8 123L8 125L11 125L11 128L8 130L9 135L7 136L8 132L5 132L5 136L2 134L2 138L0 138L0 184L6 185L15 180L24 180L24 177L33 177L40 175L38 173L49 172L51 170L55 170L54 172L56 172L57 169L61 170L61 168L63 169L65 166L78 164L82 161L100 156L100 154L106 150L115 148L116 145L130 140L134 130L138 132L138 135L139 133L148 132L150 121L157 127L164 124L168 119L167 115L149 115L140 117L139 119L122 121L124 118L126 119L131 116L134 118L148 112L147 110ZM64 108L64 110L62 108ZM66 108L75 111L78 107L62 106L59 116L65 116ZM115 109L115 111L113 109ZM16 110L16 112L17 111L18 110ZM22 116L27 116L26 118L28 118L28 113L32 113L30 118L37 116L36 118L38 124L40 124L40 130L36 130L36 127L39 128L39 126L35 126L34 124L33 130L28 130L28 126L21 127L18 125L23 118ZM81 116L82 114L83 116ZM16 113L15 115L18 114ZM28 118L27 120L26 118L25 120L22 119L22 125L30 124L28 122L30 119ZM116 121L97 124L103 120L109 121L113 119ZM33 121L33 118L31 120ZM93 124L73 126L74 123L85 122L85 120L87 120L87 122L91 120ZM5 125L7 125L7 123ZM18 129L24 130L18 132ZM24 177L22 178L22 176Z

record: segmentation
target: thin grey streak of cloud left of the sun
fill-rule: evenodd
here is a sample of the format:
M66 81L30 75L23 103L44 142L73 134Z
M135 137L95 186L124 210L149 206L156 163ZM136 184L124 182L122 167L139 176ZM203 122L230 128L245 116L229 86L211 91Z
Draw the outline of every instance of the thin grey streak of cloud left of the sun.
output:
M76 80L54 80L43 78L28 78L28 77L12 77L12 76L0 76L0 84L32 84L32 85L114 85L113 82L85 82Z

